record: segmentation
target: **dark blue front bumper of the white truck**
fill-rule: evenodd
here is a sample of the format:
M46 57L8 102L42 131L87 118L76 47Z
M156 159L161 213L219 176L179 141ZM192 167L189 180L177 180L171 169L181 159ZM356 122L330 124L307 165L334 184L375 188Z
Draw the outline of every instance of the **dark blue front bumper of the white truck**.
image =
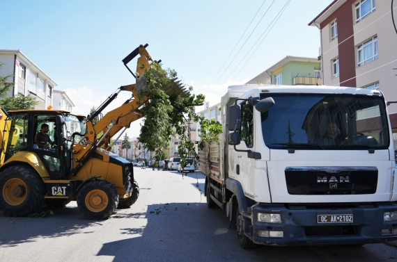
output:
M251 208L251 221L244 218L244 233L260 245L385 243L397 240L397 220L385 222L384 212L387 211L397 211L397 204L375 203L354 208L286 208L284 205L259 204ZM281 223L258 222L258 213L281 214ZM318 215L350 214L353 222L318 222ZM267 236L266 231L279 232Z

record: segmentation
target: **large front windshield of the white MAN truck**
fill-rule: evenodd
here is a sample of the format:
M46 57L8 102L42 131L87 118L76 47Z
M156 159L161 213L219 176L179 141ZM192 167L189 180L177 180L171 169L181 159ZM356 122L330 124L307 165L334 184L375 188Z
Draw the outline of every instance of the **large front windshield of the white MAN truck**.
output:
M389 126L382 97L368 95L261 94L274 106L261 113L270 149L387 149Z

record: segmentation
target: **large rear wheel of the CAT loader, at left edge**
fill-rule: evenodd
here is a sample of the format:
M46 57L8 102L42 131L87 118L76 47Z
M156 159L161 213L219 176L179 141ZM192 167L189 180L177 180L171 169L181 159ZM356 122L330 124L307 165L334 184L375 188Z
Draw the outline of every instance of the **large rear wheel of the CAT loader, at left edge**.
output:
M0 173L0 192L0 211L10 217L23 217L38 211L47 190L33 168L14 165Z

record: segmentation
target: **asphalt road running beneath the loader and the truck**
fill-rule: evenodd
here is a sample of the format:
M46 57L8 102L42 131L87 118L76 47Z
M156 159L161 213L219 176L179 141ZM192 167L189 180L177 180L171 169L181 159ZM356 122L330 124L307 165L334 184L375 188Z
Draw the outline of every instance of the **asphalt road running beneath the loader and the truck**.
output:
M220 208L209 209L201 173L134 169L139 199L108 220L85 220L76 202L45 218L0 213L0 261L397 261L397 247L244 250Z

